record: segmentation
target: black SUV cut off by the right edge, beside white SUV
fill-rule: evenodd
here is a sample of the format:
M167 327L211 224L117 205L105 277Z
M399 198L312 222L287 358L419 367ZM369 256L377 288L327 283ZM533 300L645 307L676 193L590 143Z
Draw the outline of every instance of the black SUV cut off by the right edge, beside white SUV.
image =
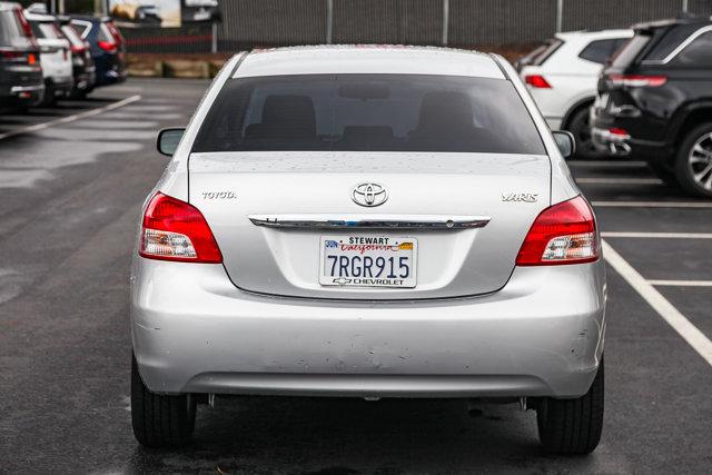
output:
M712 198L712 20L642 23L599 80L594 142Z

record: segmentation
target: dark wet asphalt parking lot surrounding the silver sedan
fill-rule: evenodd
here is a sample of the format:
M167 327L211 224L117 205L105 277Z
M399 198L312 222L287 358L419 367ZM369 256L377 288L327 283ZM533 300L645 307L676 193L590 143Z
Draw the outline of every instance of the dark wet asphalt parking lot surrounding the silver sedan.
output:
M218 398L191 447L139 447L135 226L166 166L156 131L185 125L206 87L131 80L0 116L0 472L709 473L712 201L635 161L572 162L609 261L606 420L591 456L543 454L533 412L463 400Z

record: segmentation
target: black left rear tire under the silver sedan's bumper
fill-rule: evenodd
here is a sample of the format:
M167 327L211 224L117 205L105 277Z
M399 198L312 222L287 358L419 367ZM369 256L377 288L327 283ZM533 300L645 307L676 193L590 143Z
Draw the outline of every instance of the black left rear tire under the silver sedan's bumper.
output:
M182 447L190 443L196 423L196 400L190 395L151 393L131 358L131 425L146 447Z

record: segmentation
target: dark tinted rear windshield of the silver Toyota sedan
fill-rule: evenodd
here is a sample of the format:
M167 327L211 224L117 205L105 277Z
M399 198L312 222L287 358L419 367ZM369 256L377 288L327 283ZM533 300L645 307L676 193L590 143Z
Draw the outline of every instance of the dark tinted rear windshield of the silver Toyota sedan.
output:
M314 75L230 79L192 151L545 154L503 79Z

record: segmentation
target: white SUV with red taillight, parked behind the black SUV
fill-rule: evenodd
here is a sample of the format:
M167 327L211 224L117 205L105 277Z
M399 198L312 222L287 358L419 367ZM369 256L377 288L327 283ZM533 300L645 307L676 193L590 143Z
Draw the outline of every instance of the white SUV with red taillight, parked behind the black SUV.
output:
M632 30L557 33L517 63L552 130L573 133L578 157L601 155L591 142L589 108L603 65L632 36Z

